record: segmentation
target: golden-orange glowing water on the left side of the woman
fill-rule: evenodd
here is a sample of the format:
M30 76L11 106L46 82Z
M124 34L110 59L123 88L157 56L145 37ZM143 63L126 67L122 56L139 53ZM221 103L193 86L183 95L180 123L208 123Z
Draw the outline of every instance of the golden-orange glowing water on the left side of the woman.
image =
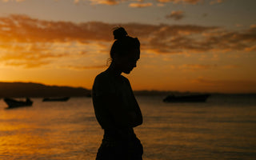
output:
M90 104L89 98L82 102L78 99L70 103L51 104L34 99L34 106L31 108L2 110L0 158L91 158L96 152L101 130L95 127L97 124L93 119L93 110L86 103ZM90 133L95 130L98 130L98 134ZM83 154L86 146L93 145L95 150L89 152L93 155Z

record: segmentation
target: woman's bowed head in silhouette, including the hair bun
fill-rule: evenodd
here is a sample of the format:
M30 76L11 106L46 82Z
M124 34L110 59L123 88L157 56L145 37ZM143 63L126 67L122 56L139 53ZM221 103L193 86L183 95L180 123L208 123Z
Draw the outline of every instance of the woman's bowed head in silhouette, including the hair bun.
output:
M117 27L113 31L114 39L110 50L110 58L115 66L118 66L122 72L129 74L140 56L140 42L138 38L128 36L126 30L122 27Z

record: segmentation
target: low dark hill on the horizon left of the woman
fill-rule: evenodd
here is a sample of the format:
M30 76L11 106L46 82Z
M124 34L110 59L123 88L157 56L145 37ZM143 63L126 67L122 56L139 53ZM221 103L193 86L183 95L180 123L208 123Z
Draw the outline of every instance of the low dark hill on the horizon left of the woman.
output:
M88 95L90 95L90 90L82 87L46 86L34 82L0 82L0 98L82 97Z

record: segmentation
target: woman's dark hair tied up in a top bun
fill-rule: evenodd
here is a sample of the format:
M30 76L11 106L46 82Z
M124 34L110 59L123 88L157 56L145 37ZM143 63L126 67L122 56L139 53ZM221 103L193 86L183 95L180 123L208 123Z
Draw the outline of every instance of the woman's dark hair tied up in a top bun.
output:
M138 38L130 37L123 27L114 28L113 34L116 41L111 47L110 58L114 58L114 54L123 56L129 54L130 50L139 49L140 42Z

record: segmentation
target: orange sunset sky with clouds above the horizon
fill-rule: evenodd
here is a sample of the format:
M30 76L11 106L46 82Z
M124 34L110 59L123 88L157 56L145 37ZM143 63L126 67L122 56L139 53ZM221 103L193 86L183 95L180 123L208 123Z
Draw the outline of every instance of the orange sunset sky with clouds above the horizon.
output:
M256 93L255 0L0 0L0 82L91 89L112 29L141 42L134 90Z

